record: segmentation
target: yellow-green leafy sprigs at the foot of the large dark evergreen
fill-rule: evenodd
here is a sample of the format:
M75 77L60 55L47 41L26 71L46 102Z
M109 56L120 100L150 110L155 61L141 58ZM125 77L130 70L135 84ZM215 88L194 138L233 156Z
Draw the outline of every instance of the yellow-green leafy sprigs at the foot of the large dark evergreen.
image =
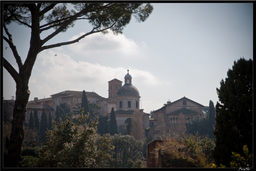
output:
M243 152L244 152L244 157L232 151L232 161L229 163L230 167L233 167L233 168L248 168L248 167L252 168L253 167L252 154L249 154L247 145L243 146ZM217 165L213 163L212 167L216 168ZM220 164L220 167L225 168L226 166L223 164Z

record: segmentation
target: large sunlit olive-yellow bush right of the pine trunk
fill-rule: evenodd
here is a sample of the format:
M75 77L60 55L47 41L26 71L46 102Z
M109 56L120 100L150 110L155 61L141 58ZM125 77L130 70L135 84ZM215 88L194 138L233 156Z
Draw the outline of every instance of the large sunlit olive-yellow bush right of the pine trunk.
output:
M97 133L97 119L87 124L89 115L80 110L78 122L66 118L47 132L47 142L39 151L38 167L100 167L110 158L109 136Z

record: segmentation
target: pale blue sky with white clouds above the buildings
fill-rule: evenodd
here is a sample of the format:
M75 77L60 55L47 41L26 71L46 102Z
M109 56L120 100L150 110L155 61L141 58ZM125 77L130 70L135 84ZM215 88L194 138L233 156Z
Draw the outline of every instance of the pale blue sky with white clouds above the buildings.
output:
M145 113L184 96L204 106L210 100L216 105L216 88L234 61L253 60L253 3L152 5L149 18L140 23L132 18L123 34L94 33L78 43L40 52L28 84L29 101L65 90L108 98L108 81L116 78L123 85L129 69ZM7 28L24 63L31 31L17 24ZM91 30L88 21L75 22L45 45L74 40ZM2 44L3 57L18 71L11 49L4 40ZM4 67L2 73L3 97L8 100L16 96L16 83Z

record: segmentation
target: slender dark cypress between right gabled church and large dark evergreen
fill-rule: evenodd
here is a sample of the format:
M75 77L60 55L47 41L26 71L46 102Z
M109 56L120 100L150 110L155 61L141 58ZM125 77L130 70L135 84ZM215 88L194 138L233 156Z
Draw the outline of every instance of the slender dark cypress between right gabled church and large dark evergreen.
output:
M208 122L209 122L209 138L213 139L214 141L215 141L215 136L214 136L213 132L214 132L215 124L216 124L215 118L216 118L215 107L214 107L213 102L210 100L210 102L209 102L209 119L208 119Z

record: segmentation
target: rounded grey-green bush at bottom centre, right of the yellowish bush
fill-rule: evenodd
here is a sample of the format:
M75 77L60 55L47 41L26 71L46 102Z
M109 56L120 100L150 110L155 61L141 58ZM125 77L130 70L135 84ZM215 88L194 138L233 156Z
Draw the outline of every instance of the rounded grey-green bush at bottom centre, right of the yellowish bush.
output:
M112 160L107 166L114 168L131 167L131 162L143 161L143 142L135 140L133 136L115 134L111 136L114 149L111 151Z

